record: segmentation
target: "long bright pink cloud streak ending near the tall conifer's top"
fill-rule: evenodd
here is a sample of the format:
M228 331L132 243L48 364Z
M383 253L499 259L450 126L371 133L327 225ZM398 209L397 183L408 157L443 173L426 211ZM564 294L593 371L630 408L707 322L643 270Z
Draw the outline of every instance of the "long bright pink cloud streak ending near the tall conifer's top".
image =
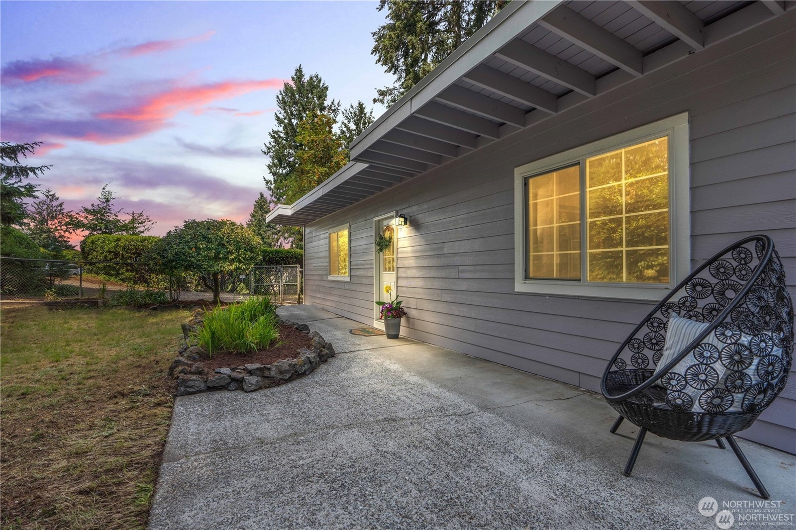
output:
M150 96L146 102L119 111L103 112L100 119L123 119L134 122L162 122L174 118L180 111L201 111L202 107L217 99L229 99L258 90L279 89L285 84L281 79L261 81L224 81L193 87L172 88Z

